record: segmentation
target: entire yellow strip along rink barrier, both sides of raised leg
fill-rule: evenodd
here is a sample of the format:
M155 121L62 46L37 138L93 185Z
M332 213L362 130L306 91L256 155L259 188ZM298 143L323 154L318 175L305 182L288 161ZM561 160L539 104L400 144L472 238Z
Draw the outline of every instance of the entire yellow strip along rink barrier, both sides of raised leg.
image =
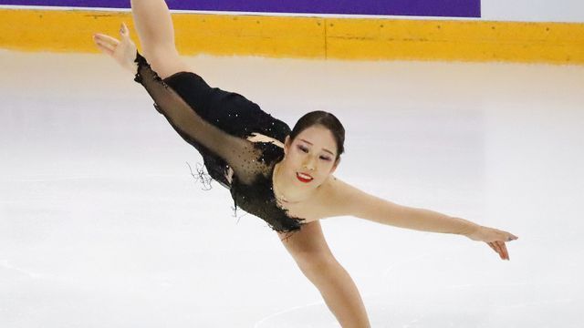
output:
M584 24L172 14L183 55L584 64ZM98 52L129 12L0 10L0 47Z

